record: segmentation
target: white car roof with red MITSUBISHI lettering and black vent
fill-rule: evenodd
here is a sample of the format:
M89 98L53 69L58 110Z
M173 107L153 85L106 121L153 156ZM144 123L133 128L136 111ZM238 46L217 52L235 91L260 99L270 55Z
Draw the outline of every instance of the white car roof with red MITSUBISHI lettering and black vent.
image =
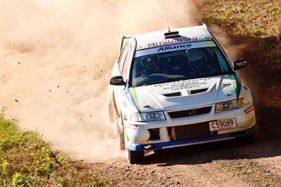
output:
M148 32L145 34L137 34L130 37L135 38L137 41L136 50L171 45L176 43L211 40L211 35L207 31L206 25L171 29L171 32L178 32L180 36L165 39L164 34L168 32L168 30L163 30L157 32Z

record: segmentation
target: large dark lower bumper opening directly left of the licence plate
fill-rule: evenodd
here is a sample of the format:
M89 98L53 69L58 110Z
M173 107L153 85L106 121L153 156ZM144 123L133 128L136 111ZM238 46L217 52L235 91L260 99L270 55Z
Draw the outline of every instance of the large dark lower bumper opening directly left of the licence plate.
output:
M197 139L211 136L208 122L168 127L168 133L171 140Z

